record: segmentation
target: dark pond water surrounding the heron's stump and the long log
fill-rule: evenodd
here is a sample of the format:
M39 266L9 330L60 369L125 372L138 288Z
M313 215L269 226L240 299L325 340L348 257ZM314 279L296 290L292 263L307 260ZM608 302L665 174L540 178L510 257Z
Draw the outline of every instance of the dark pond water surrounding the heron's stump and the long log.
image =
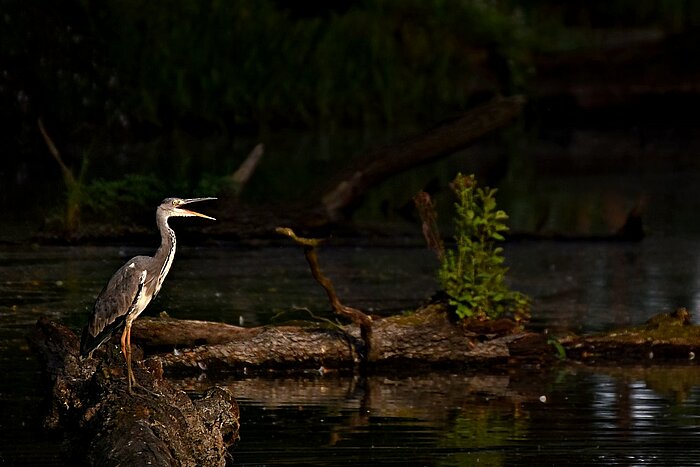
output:
M512 285L532 327L589 332L698 309L700 240L515 242ZM40 430L39 316L79 328L111 273L149 248L0 249L0 464L60 465ZM321 264L348 304L398 312L435 290L422 248L329 247ZM186 245L148 314L257 325L324 315L297 248ZM201 390L212 375L179 384ZM237 465L692 465L700 461L700 369L561 366L509 373L330 374L222 381L241 404Z

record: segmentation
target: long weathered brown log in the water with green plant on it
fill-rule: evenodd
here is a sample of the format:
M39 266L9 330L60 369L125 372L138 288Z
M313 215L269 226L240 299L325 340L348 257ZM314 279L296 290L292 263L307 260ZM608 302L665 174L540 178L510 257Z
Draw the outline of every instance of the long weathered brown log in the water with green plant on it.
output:
M139 320L133 339L145 350L162 350L163 342L141 341L148 328L164 332L167 323ZM174 321L169 321L174 324ZM199 326L207 325L199 322ZM219 323L209 323L220 331ZM434 304L415 313L373 321L371 342L363 342L357 325L342 328L319 326L274 326L230 330L230 341L216 345L188 347L189 339L177 340L178 330L188 324L174 324L167 341L169 353L151 357L166 372L247 372L269 369L351 369L358 364L387 366L408 362L417 365L479 365L506 363L511 358L547 359L553 352L546 338L520 331L509 320L478 329L452 322L444 305ZM220 336L225 340L224 336ZM149 348L150 347L150 348ZM369 348L369 353L365 349Z

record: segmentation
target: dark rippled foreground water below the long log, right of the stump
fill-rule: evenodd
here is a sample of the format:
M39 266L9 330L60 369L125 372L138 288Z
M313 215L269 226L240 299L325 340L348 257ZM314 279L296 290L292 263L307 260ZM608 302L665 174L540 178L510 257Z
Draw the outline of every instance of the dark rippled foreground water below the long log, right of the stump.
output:
M700 454L700 392L681 401L650 384L672 377L700 383L686 366L219 384L241 404L237 465L688 465Z

